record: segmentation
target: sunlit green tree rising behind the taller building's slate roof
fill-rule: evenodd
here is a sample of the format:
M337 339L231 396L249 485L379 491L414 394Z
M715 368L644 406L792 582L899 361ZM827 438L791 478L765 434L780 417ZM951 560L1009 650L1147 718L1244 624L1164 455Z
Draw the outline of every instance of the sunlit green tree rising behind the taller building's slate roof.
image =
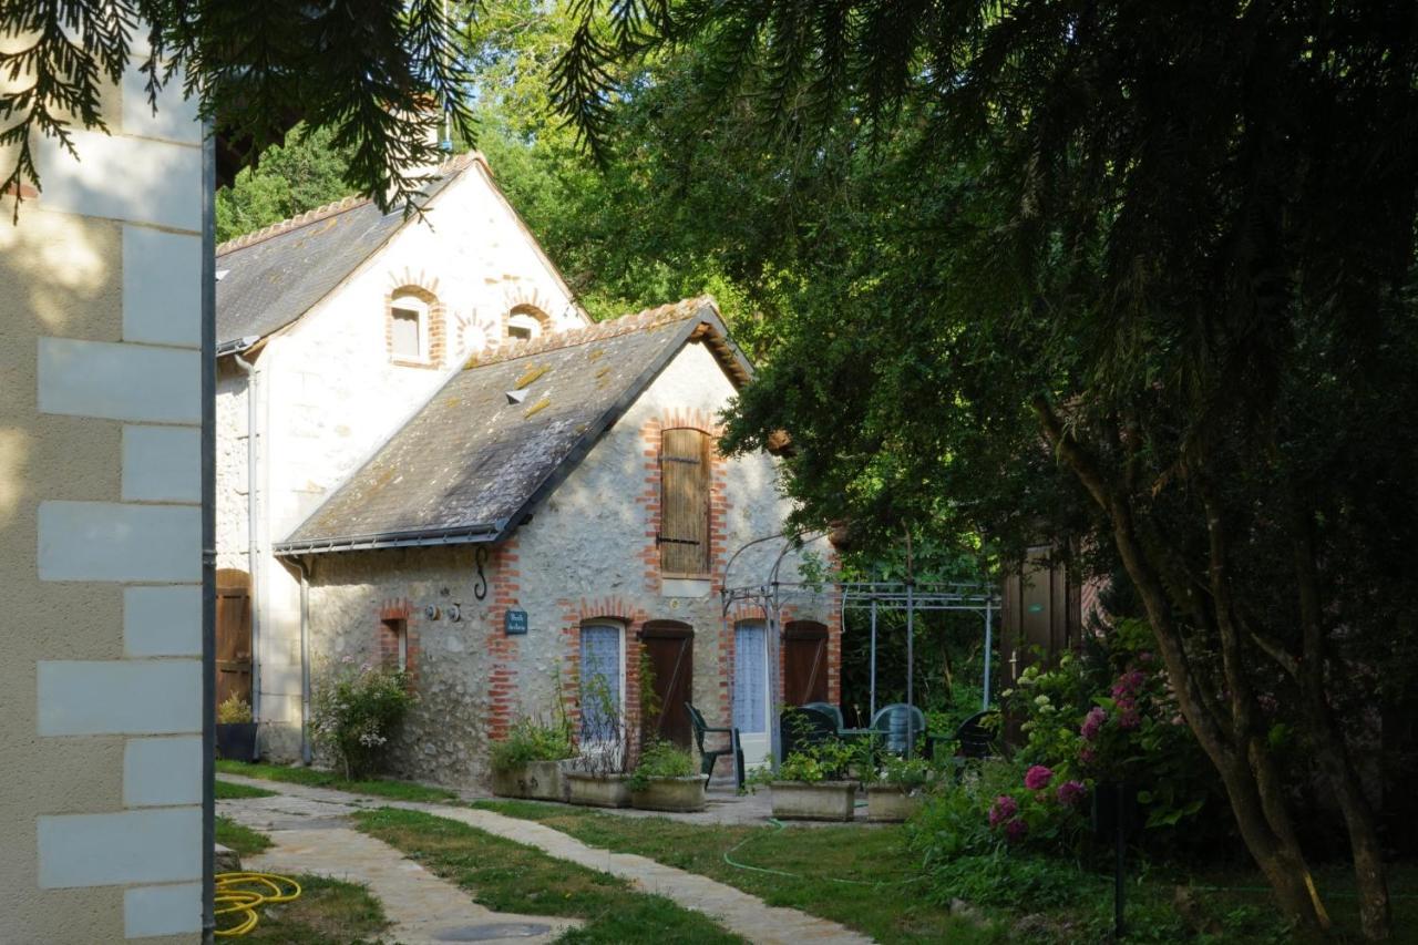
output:
M271 145L230 187L217 190L217 243L288 220L352 193L349 150L335 148L333 129L294 128L285 146Z

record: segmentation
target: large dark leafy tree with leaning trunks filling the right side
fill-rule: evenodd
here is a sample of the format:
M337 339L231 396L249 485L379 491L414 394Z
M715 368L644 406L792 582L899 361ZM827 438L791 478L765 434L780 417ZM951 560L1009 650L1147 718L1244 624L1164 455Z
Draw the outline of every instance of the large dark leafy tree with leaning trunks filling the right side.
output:
M1295 728L1387 936L1346 732L1414 678L1411 7L580 9L552 91L596 153L624 64L693 47L699 126L749 101L756 140L805 142L810 172L876 163L727 446L793 430L804 521L1082 528L1134 585L1282 908L1329 925L1275 752Z

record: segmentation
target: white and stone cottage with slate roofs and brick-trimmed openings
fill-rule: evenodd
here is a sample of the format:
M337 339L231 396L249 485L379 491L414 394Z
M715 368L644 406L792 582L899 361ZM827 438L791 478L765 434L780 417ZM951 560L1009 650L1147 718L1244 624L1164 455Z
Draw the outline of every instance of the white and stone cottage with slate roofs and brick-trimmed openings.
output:
M594 729L591 687L685 742L692 700L761 761L767 624L719 590L787 505L771 457L713 446L752 369L709 299L590 324L484 160L440 173L424 220L350 201L218 254L223 613L254 639L227 691L250 673L267 755L309 756L322 673L397 663L397 768L447 783L522 715ZM831 595L794 604L781 691L835 701Z

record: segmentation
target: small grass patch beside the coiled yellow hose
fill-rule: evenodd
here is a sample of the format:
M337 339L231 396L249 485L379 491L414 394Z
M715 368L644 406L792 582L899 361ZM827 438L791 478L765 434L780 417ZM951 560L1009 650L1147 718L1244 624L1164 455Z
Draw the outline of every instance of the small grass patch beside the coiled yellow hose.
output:
M318 875L292 877L301 884L294 902L262 905L257 927L242 942L267 945L370 945L389 928L384 908L363 885ZM230 928L234 917L218 917ZM218 939L221 941L221 939Z

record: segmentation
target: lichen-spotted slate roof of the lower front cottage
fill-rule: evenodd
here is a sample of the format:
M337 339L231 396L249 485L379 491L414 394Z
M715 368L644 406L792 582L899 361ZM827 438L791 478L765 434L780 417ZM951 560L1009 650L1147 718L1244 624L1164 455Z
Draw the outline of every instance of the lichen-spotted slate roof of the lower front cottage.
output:
M472 356L277 553L501 541L693 338L749 380L708 297Z

